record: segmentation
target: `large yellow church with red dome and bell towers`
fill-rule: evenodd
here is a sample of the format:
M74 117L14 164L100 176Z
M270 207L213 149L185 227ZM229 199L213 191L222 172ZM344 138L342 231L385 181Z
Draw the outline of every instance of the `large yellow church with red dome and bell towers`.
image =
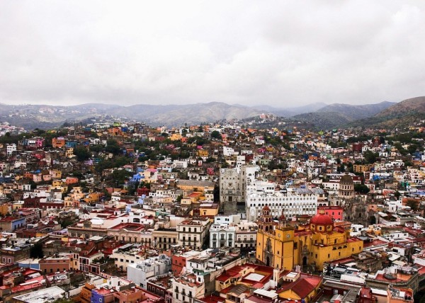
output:
M276 224L267 205L261 210L256 258L265 265L283 270L292 270L296 265L303 270L322 270L324 262L363 251L363 241L351 237L348 229L334 227L323 210L310 219L309 225L297 229L285 221L281 215Z

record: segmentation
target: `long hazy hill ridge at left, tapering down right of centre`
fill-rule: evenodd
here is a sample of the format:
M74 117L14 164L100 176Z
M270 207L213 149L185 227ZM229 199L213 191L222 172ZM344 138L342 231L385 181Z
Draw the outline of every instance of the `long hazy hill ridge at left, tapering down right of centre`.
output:
M88 103L72 106L57 105L1 105L0 121L23 126L27 130L51 128L64 122L81 120L129 120L149 125L181 126L217 120L249 118L261 110L226 103L197 103L189 105L106 105Z

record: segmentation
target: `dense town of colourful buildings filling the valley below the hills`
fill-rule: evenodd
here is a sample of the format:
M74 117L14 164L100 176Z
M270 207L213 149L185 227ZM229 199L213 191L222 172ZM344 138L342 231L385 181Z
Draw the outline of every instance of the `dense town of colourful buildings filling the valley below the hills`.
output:
M251 127L1 133L1 299L414 302L423 125Z

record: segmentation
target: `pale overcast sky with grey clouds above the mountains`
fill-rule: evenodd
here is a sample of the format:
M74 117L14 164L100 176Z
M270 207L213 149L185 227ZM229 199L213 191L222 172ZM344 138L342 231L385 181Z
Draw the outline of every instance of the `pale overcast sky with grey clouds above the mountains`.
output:
M0 103L424 96L425 1L0 1Z

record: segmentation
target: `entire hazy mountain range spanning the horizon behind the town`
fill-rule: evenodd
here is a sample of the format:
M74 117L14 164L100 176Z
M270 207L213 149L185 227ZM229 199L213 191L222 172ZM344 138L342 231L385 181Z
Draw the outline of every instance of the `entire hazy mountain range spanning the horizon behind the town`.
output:
M268 105L229 105L220 102L188 105L6 105L0 103L0 122L22 126L27 130L51 128L64 122L126 120L148 125L197 125L218 120L242 120L259 117L262 113L291 121L307 122L316 128L344 126L397 127L424 119L425 97L407 99L399 103L381 102L365 105L343 103L312 103L295 108L274 108Z

